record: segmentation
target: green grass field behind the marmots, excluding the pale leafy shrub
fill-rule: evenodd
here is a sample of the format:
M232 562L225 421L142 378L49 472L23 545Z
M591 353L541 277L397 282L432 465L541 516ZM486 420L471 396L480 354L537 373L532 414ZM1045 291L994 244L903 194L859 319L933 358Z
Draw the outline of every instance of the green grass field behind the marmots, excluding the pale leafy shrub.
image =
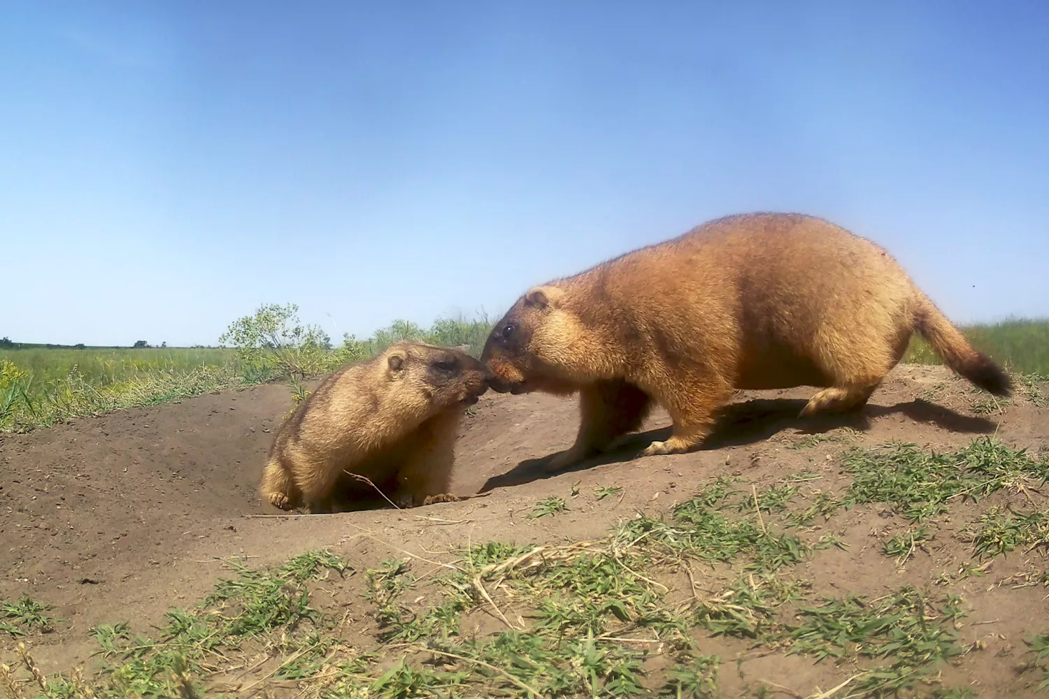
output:
M442 319L430 328L397 321L366 340L352 341L350 354L340 353L340 348L327 350L312 369L334 370L347 357L372 356L401 338L468 345L477 354L490 328L487 319ZM1049 375L1049 321L1011 320L963 330L979 349L1010 370ZM940 364L917 337L904 361ZM0 432L27 431L276 377L273 367L242 362L230 349L0 349Z

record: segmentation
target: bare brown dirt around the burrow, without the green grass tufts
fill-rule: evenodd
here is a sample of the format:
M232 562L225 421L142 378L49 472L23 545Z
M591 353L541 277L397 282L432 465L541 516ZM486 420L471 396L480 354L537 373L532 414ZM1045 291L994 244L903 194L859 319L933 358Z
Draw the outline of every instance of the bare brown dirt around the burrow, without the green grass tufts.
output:
M454 478L455 490L484 490L487 498L331 517L260 517L278 512L260 502L257 484L274 431L292 407L282 386L199 396L8 435L0 443L0 599L28 594L55 605L52 614L61 619L63 633L42 636L35 645L45 671L66 670L86 660L91 649L86 631L91 626L117 619L155 622L169 606L190 604L206 593L222 574L221 560L234 555L269 564L329 546L355 565L371 565L398 551L429 556L471 541L601 537L616 521L638 511L665 511L723 474L762 483L805 469L820 474L828 487L834 487L843 478L834 460L842 449L842 434L869 445L904 441L958 449L979 434L991 433L1034 452L1049 443L1049 411L1025 397L1023 387L1011 403L988 402L986 394L973 393L968 384L939 367L897 368L865 411L848 418L798 421L797 412L811 393L740 393L707 449L638 460L640 449L668 433L669 420L657 413L645 434L553 477L542 464L574 440L575 401L489 394L464 422ZM836 436L828 437L830 430ZM604 485L622 490L599 501L591 494ZM571 499L564 515L526 518L538 500L569 497L570 490L578 497ZM934 575L971 553L958 542L943 542L902 572L890 564L893 572L886 575L879 567L885 556L872 548L871 537L873 531L883 534L891 522L875 508L836 518L826 526L845 532L851 551L828 551L807 564L815 585L826 590L875 594L904 578ZM1018 559L994 565L998 580L1019 574L1025 564ZM1007 654L1006 645L1022 646L1018 639L1023 633L1049 627L1043 592L1027 588L1019 596L1007 595L1001 586L985 589L988 584L972 583L968 602L989 624L999 619L990 630L1002 639L992 650ZM0 639L0 645L9 642ZM754 667L773 660L783 661L755 659ZM791 670L795 665L796 673ZM998 676L988 668L966 681L986 686L1009 680L1006 670ZM807 660L792 658L773 674L776 681L793 679L800 687L811 686L817 676L825 682L834 677L820 672ZM1021 696L1026 686L1013 685L1009 696Z

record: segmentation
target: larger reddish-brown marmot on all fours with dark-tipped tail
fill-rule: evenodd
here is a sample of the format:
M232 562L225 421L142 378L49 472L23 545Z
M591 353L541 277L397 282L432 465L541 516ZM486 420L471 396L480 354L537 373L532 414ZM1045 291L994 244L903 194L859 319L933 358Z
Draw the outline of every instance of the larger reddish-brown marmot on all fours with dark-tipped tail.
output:
M651 403L677 454L709 433L734 389L822 388L801 410L861 408L919 331L996 395L1008 376L977 352L890 255L812 216L748 214L532 288L495 325L481 362L495 391L580 393L575 463L641 427Z

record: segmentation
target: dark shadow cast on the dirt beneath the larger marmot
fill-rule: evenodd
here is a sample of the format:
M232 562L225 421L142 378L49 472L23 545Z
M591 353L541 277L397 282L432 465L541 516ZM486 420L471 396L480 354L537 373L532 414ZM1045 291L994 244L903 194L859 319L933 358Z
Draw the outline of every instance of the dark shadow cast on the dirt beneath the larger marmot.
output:
M798 413L806 402L808 401L805 399L796 398L755 398L726 406L722 410L713 431L695 451L753 444L766 440L787 428L797 428L805 434L820 434L847 427L865 432L871 427L871 418L894 413L902 414L916 422L932 422L951 432L976 434L994 430L994 423L986 418L962 415L949 408L937 406L921 398L891 407L869 403L862 411L798 418ZM497 487L523 485L563 473L630 461L637 459L641 451L652 441L666 440L670 436L670 428L667 427L626 435L621 437L618 443L605 453L584 459L564 471L555 473L549 473L544 469L554 454L538 459L526 459L511 471L488 479L481 486L480 493Z

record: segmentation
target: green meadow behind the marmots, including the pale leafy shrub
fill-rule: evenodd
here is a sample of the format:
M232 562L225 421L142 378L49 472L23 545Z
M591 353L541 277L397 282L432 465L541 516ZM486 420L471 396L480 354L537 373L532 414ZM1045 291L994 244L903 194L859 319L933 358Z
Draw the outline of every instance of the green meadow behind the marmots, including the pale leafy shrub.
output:
M234 322L216 348L58 348L0 343L0 432L25 432L63 420L165 402L209 391L286 380L301 381L402 338L480 352L492 322L440 319L429 328L395 321L366 340L345 335L333 345L316 326L303 326L294 305L263 306ZM1049 375L1049 320L1008 320L964 327L966 336L1009 370ZM940 364L917 336L904 362Z

